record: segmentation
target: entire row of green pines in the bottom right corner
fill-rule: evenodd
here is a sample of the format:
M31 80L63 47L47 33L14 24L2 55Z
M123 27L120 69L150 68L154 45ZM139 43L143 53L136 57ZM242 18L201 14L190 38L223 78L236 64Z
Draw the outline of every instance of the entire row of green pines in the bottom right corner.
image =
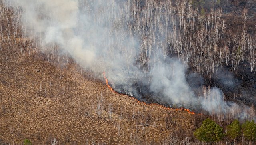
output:
M194 136L206 143L217 143L225 141L226 144L252 145L256 140L256 124L254 120L245 121L240 123L237 119L232 121L231 124L222 128L210 118L202 121L200 128L194 131Z

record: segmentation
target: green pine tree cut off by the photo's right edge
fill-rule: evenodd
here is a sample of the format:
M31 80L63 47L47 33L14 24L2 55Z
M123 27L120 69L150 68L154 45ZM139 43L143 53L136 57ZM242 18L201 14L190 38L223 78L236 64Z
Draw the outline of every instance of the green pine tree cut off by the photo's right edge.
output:
M246 139L250 142L254 141L256 138L256 124L254 123L254 120L245 121L245 123L242 124L242 131Z

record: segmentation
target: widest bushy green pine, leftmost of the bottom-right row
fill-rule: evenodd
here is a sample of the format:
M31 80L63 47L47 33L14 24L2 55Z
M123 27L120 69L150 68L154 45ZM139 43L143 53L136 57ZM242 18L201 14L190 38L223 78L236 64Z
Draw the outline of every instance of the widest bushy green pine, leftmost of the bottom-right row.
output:
M220 125L207 118L202 122L201 127L194 131L194 136L200 141L213 143L220 141L225 135Z

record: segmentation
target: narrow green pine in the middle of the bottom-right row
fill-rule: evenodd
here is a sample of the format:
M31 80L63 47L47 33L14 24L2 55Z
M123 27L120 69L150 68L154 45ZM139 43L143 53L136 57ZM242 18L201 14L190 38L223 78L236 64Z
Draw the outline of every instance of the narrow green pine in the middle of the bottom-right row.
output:
M241 127L239 121L236 119L230 125L227 126L227 136L233 140L241 134Z

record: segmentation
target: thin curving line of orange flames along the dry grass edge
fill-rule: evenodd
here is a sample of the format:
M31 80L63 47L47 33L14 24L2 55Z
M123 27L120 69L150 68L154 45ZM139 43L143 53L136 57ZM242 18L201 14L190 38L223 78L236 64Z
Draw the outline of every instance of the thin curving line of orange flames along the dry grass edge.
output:
M114 93L117 93L117 94L119 94L119 95L125 95L125 94L122 94L122 93L118 93L117 91L115 91L115 90L108 84L108 79L106 78L106 75L105 75L105 74L106 74L106 73L103 72L103 77L104 77L104 79L105 79L105 81L106 81L106 85L107 85L108 89L110 89L111 91L113 91ZM129 97L131 97L131 96L129 96ZM193 115L196 114L195 112L192 112L192 111L190 111L189 109L186 109L186 108L170 108L170 107L165 107L165 106L160 105L160 104L157 104L157 103L150 103L150 104L148 104L148 103L139 101L139 100L136 99L135 97L132 97L132 98L133 98L134 100L136 100L138 103L143 103L144 105L148 105L148 106L156 105L156 106L162 107L162 108L167 109L167 110L176 110L176 111L181 110L181 111L187 111L188 113L193 114ZM199 115L201 115L201 114L199 114Z

